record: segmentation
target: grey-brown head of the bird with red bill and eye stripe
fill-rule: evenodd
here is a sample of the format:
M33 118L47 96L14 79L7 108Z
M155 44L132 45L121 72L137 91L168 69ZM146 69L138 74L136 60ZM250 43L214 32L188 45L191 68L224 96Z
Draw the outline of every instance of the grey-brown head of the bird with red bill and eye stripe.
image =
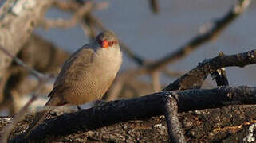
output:
M95 42L100 45L100 48L114 48L119 45L116 35L111 31L100 33Z

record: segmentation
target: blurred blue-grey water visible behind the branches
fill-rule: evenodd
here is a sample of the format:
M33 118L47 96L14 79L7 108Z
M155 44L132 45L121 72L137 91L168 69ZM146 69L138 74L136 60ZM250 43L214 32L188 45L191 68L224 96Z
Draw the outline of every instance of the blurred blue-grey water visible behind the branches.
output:
M149 60L156 60L190 41L191 37L199 33L200 26L223 17L238 1L161 0L160 14L152 14L148 9L148 0L108 2L110 5L107 10L96 11L94 14L128 44L133 52ZM219 51L234 54L256 48L255 8L256 2L252 1L246 12L225 29L216 41L203 44L183 60L171 64L170 68L173 71L187 72L204 59L217 56ZM46 15L51 18L70 17L70 14L56 9L49 10ZM37 29L37 33L70 52L89 42L79 26L49 31ZM122 69L134 67L136 64L124 57ZM230 85L256 86L255 64L246 68L227 68L226 71ZM170 79L163 78L162 82L171 83Z

